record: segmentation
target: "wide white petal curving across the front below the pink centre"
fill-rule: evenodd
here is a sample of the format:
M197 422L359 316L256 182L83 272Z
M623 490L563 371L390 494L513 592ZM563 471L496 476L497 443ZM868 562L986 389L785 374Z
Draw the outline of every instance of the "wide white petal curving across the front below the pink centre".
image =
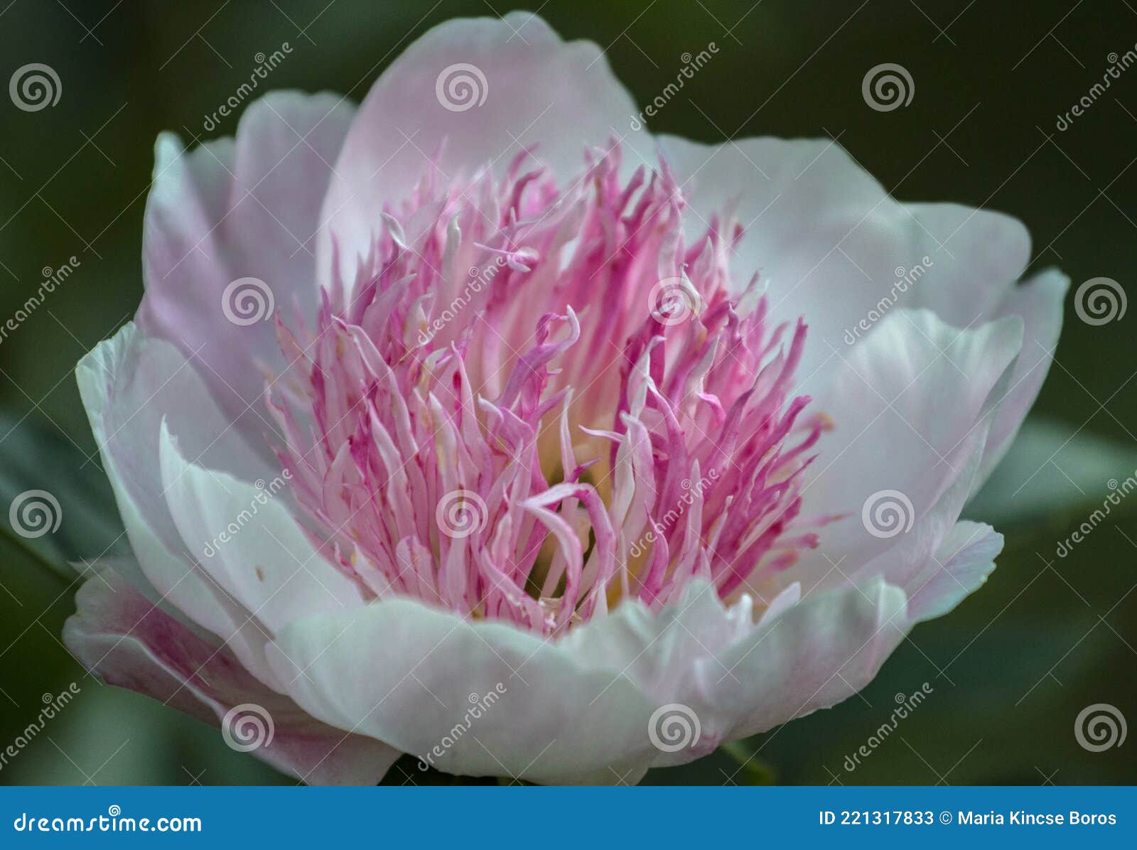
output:
M757 625L749 600L725 608L696 583L661 611L624 603L561 641L392 599L289 626L269 656L281 677L305 670L290 695L312 715L443 770L613 783L846 699L911 625L904 592L879 576L791 592ZM675 703L699 734L671 750Z

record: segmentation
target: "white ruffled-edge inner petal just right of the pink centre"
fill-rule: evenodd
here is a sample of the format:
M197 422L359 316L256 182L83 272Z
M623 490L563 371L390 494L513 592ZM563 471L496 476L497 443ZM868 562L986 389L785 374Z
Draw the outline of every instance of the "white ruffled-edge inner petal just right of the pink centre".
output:
M872 533L862 522L866 505L872 514L875 503L894 501L902 506L896 518L911 526L961 476L966 494L974 477L969 465L984 451L1021 334L1022 322L1014 316L958 330L927 310L896 310L863 342L835 355L831 384L814 402L835 425L805 502L811 515L847 516L824 528L822 549L806 559L814 574L831 573L838 562L840 572L852 575L903 543L905 535L894 534L887 523L873 523L878 533ZM940 518L941 533L961 507ZM924 551L937 542L928 541Z

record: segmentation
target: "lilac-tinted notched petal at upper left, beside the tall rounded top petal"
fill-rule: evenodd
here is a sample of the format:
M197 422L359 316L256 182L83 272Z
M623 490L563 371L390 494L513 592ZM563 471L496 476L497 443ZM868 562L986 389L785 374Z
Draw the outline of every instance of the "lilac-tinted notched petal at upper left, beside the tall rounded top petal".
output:
M225 288L255 277L275 307L290 311L298 303L310 315L319 205L352 114L333 94L273 92L244 110L235 141L186 152L163 134L156 144L139 323L192 355L222 408L256 439L266 428L247 411L259 405L264 367L282 365L273 314L249 325L230 322Z

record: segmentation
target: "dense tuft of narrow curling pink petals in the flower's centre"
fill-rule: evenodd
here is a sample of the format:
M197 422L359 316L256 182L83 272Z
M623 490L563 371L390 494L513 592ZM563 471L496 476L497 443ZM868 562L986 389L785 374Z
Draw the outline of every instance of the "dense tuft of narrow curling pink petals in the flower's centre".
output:
M277 320L309 533L376 597L546 634L699 578L762 599L816 544L805 325L730 293L729 215L687 244L665 164L622 178L613 148L558 186L532 161L429 169L315 327Z

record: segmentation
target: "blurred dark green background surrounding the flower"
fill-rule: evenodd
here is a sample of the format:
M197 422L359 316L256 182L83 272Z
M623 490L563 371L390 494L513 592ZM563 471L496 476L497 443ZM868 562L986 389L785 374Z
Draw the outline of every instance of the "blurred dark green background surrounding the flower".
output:
M5 7L6 8L2 8ZM0 480L63 502L48 560L101 551L107 488L72 374L139 302L142 210L161 130L190 140L256 67L289 42L267 88L359 100L414 38L493 0L0 2L0 82L19 66L58 73L60 102L35 113L0 100L0 319L73 255L75 274L0 343ZM1137 42L1126 0L974 3L655 0L530 3L566 38L606 48L644 106L684 52L719 53L652 128L703 141L836 138L902 200L953 200L1011 213L1035 240L1034 267L1073 285L1105 276L1132 292L1137 265L1137 69L1123 72L1068 130L1060 114ZM866 107L865 72L908 69L915 94ZM206 136L231 134L230 117ZM1103 326L1068 303L1056 363L1015 456L973 515L1007 535L999 568L956 611L915 630L862 695L738 748L654 772L672 783L1134 783L1137 742L1082 749L1074 718L1105 702L1137 720L1137 495L1067 558L1057 542L1137 468L1135 315ZM32 444L53 441L49 459ZM39 449L36 450L39 451ZM76 461L77 459L77 461ZM1021 490L1023 482L1029 484ZM10 490L10 492L9 492ZM113 522L113 519L111 519ZM7 526L3 528L8 531ZM2 783L290 782L230 751L215 730L100 685L59 643L75 585L0 536L0 749L70 683L80 695L0 767ZM896 694L930 697L854 772L845 766L887 722ZM762 767L754 769L761 763ZM422 781L414 768L389 781Z

